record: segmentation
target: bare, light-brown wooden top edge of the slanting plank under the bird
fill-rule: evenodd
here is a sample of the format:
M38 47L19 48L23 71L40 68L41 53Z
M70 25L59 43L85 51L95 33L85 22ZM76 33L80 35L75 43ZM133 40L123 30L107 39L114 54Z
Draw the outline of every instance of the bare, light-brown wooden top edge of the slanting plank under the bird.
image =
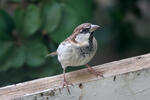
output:
M87 83L94 80L105 80L114 75L135 72L149 67L150 54L146 54L94 66L97 71L104 71L104 79L97 78L93 74L90 74L86 68L74 72L69 72L66 74L66 78L76 86L80 83ZM0 88L0 100L9 100L20 97L24 98L33 94L37 95L40 93L50 92L51 90L59 90L59 88L62 88L62 77L62 75L57 75L2 87ZM30 99L28 98L23 100Z

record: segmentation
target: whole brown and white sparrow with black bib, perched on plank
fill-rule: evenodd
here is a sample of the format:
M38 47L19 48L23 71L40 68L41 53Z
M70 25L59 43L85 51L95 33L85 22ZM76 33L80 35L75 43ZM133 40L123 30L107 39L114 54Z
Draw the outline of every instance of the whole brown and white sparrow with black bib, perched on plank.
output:
M88 62L90 62L97 51L97 41L94 37L94 32L98 28L100 28L99 25L91 23L78 25L73 33L59 44L56 52L47 55L58 56L58 61L63 68L63 87L70 85L65 76L66 68L69 66L86 65L89 72L103 77L102 71L96 71L88 65Z

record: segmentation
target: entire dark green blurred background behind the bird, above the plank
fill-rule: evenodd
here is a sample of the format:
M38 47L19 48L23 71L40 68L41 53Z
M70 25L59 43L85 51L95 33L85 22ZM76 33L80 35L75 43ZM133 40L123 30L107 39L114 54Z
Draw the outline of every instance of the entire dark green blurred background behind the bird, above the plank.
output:
M62 73L45 55L85 22L101 26L90 65L150 51L149 0L0 0L0 87Z

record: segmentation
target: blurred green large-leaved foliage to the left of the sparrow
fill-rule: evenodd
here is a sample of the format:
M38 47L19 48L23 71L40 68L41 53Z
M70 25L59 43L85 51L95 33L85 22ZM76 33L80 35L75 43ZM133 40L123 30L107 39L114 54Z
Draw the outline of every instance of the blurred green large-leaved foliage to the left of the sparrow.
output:
M90 21L93 9L92 0L0 3L1 86L61 73L56 57L45 56L55 51L78 24Z

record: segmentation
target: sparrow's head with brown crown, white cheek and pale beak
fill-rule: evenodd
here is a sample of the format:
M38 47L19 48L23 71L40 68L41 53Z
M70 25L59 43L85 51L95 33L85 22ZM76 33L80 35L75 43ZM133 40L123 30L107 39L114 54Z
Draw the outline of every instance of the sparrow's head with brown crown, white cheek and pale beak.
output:
M99 28L98 25L91 23L81 24L75 28L72 37L74 37L77 42L89 41L90 38L93 38L93 33L97 28Z

